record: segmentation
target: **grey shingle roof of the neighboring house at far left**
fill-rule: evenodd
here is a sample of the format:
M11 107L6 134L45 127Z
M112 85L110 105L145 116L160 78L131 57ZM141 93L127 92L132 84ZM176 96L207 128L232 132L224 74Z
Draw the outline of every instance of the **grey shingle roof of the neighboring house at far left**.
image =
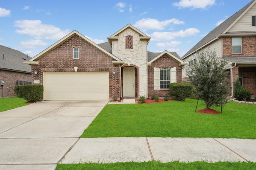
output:
M31 66L23 63L23 61L28 61L30 59L31 57L18 50L0 45L1 70L31 73Z

